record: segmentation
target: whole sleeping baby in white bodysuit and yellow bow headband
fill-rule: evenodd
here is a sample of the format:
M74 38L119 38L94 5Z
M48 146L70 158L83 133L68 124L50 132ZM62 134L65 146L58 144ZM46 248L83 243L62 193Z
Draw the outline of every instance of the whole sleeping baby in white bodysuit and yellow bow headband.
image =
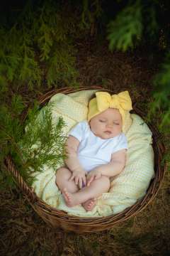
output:
M89 102L87 121L69 132L66 166L57 170L56 184L67 206L92 210L96 198L108 192L113 177L125 167L125 114L132 110L128 91L118 95L96 92Z

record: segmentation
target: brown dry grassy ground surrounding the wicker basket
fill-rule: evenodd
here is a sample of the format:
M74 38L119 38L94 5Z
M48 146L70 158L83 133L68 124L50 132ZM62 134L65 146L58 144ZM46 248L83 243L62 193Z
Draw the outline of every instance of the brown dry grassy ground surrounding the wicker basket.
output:
M132 101L140 106L151 100L151 80L161 62L158 55L147 54L145 49L111 53L108 46L96 46L93 41L78 43L77 48L80 85L129 90ZM32 92L17 89L28 103L45 92L47 87ZM167 149L169 137L164 143ZM145 210L110 230L81 235L48 227L19 188L8 188L0 192L0 255L169 255L169 185L170 172L166 171L162 187Z

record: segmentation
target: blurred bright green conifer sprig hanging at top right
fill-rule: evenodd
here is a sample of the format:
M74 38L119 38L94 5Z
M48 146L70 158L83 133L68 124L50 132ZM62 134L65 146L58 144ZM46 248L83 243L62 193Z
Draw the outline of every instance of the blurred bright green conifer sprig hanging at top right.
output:
M108 24L108 40L110 50L128 50L142 36L142 6L135 1L118 13L115 21Z

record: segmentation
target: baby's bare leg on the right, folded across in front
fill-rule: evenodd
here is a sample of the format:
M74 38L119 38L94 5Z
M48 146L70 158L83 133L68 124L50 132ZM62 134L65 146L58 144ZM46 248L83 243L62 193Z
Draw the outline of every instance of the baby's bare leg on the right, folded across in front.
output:
M79 203L84 203L91 198L97 198L102 193L107 192L110 188L110 179L107 176L101 176L91 182L90 186L81 188L77 192L70 193L67 187L63 190L63 196L67 203L67 206L77 206Z

